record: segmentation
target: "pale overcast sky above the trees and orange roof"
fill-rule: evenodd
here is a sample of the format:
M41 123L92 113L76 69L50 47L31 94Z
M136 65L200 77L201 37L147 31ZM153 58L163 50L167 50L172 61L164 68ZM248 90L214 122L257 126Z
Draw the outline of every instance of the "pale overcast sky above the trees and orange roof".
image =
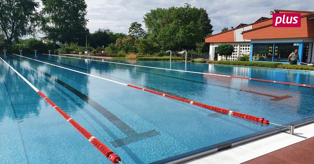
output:
M39 0L37 0L39 1ZM132 22L139 22L145 29L143 16L150 9L180 7L190 3L207 10L214 33L223 27L250 24L260 17L270 18L273 9L314 11L314 0L85 0L87 3L87 28L90 33L99 28L128 34Z

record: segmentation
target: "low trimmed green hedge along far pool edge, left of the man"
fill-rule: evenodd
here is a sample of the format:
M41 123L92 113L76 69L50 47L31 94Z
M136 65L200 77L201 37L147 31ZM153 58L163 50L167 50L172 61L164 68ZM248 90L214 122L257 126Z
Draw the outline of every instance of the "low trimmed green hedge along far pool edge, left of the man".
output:
M249 61L225 61L225 60L208 61L207 63L225 64L225 65L253 66L253 67L268 67L268 68L277 68L278 65L282 65L282 63L249 62Z

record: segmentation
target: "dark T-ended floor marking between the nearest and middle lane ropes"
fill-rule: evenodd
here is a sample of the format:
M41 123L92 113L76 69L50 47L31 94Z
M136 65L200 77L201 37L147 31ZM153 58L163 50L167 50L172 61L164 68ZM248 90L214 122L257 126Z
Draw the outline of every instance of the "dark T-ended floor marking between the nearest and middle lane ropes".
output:
M17 60L19 60L19 59L17 59ZM131 128L129 125L124 123L121 119L116 117L116 115L114 115L113 113L108 111L106 108L102 107L96 101L94 101L94 100L90 99L88 96L84 95L82 92L76 90L75 88L64 83L63 81L51 76L50 74L48 74L44 71L38 70L37 68L35 68L32 65L30 65L30 67L35 69L36 71L40 72L41 74L44 74L49 79L56 81L58 84L60 84L61 86L63 86L64 88L71 91L73 94L75 94L79 98L81 98L83 101L88 103L91 107L93 107L95 110L100 112L105 118L107 118L112 124L114 124L118 129L120 129L125 135L127 135L126 138L111 141L111 144L114 147L119 147L121 145L127 145L131 142L135 142L135 141L138 141L141 139L146 139L146 138L153 137L153 136L160 134L155 129L147 131L147 132L137 133L135 130L133 130L133 128Z

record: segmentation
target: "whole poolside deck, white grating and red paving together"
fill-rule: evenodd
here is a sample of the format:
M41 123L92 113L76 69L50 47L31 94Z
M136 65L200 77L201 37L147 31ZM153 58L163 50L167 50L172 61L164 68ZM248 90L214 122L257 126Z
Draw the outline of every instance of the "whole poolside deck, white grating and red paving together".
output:
M225 150L208 154L184 164L281 164L313 163L314 161L314 123L295 128L294 135L290 130L253 140Z

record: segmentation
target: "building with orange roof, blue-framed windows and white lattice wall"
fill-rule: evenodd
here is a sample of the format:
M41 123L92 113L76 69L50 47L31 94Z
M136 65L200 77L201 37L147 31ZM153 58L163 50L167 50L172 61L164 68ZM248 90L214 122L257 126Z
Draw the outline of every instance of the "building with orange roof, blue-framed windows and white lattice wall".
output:
M205 37L210 43L211 60L226 60L215 54L215 47L230 43L235 52L227 60L250 55L250 61L288 63L288 56L299 50L303 63L314 62L314 11L274 10L275 13L300 13L301 27L273 27L273 18L261 17L251 24Z

